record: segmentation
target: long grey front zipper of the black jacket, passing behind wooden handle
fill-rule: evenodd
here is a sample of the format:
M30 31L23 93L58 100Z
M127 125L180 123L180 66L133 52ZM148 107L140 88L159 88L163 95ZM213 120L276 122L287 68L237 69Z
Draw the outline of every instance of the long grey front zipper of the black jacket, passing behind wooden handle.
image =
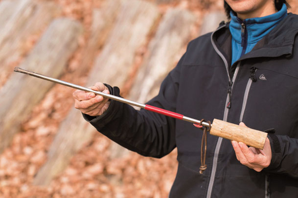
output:
M217 30L219 30L219 29L221 29L221 28L223 28L225 26L226 25L223 25L223 26L219 27ZM212 43L212 46L213 46L214 50L216 51L216 53L224 61L225 66L226 66L226 70L227 70L227 74L228 74L228 78L229 78L228 96L227 96L227 100L226 100L226 106L225 106L224 118L223 118L224 121L227 121L228 113L229 113L229 108L230 108L230 105L231 105L231 93L232 93L232 89L233 89L233 82L234 82L234 80L235 80L235 78L237 76L238 69L239 69L239 66L240 66L240 62L238 63L238 65L237 65L237 67L235 69L235 72L233 74L233 77L231 79L230 78L230 75L229 75L228 61L225 58L225 56L219 51L219 49L216 47L216 45L215 45L215 43L213 41L213 35L214 35L214 33L216 31L214 31L212 33L212 35L211 35L211 43ZM211 176L210 176L210 180L209 180L209 185L208 185L208 189L207 189L207 196L206 196L206 198L211 198L211 193L212 193L212 189L213 189L214 178L215 178L215 173L216 173L216 168L217 168L218 154L219 154L219 150L220 150L220 146L221 146L222 140L223 140L222 138L218 138L217 139L217 143L216 143L216 147L215 147L215 151L214 151L214 156L213 156L213 162L212 162Z

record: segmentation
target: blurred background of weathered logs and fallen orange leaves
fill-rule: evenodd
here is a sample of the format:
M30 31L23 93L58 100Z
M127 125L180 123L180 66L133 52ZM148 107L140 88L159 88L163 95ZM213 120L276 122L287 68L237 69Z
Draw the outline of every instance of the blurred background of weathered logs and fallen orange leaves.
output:
M73 89L13 69L106 82L145 103L187 42L222 20L223 0L0 0L0 197L167 197L176 149L130 152L82 118Z

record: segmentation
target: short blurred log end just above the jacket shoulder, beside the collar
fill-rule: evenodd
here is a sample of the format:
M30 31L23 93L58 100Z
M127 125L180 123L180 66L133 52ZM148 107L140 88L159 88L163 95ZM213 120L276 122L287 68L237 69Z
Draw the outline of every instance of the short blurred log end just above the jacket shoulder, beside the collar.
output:
M208 13L203 19L200 35L215 31L223 20L227 20L227 16L222 11Z

